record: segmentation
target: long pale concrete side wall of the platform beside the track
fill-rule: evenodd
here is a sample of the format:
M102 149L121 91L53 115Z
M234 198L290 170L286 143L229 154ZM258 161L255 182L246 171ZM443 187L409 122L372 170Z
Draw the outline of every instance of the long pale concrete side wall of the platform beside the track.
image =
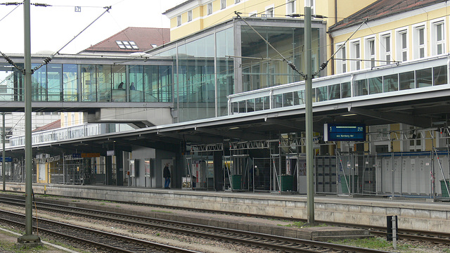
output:
M7 183L6 190L25 193L25 183ZM123 186L33 184L35 194L136 202L186 209L307 219L306 195L236 193ZM386 216L397 215L399 228L450 233L450 203L430 199L391 197L316 196L315 220L386 226Z

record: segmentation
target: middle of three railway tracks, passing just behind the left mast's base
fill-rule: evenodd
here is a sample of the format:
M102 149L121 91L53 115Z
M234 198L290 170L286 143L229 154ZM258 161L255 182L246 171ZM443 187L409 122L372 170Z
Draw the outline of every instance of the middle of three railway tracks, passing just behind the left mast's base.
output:
M6 200L1 198L1 202L9 205L23 205L19 200ZM176 221L167 221L162 219L153 219L141 216L132 216L126 214L117 214L112 212L96 211L78 207L66 207L60 205L37 203L39 209L49 212L62 212L65 214L89 217L89 219L107 220L117 223L125 223L129 226L140 226L156 228L172 233L188 233L198 238L210 238L212 240L221 240L223 242L232 242L234 244L249 245L251 247L260 247L264 249L276 250L279 252L365 252L381 253L385 252L378 249L366 249L352 247L347 245L337 245L328 242L317 242L311 240L302 240L297 238L286 238L277 235L268 235L264 233L254 233L248 231L239 231L230 228L217 228L213 226L198 225L195 223L184 223ZM39 219L39 227L41 219ZM39 228L40 231L41 228ZM139 240L141 243L141 240ZM137 242L136 242L137 244ZM139 245L139 244L138 244ZM114 245L114 247L116 247ZM133 251L130 251L133 252ZM142 251L135 251L142 252Z

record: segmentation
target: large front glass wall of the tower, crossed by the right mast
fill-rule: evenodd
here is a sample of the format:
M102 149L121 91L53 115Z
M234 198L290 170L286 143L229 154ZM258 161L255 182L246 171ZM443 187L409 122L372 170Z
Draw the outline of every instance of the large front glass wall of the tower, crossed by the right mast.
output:
M304 44L304 28L293 27L255 27L255 30L262 34L271 44L286 45L283 48L283 55L287 60L292 62L298 70L302 70L303 52L299 45ZM243 91L252 91L262 89L277 84L288 84L292 82L300 82L301 76L293 71L288 65L278 61L266 61L257 58L278 58L278 53L272 48L267 48L266 43L259 37L252 28L243 25L241 27L240 36L242 37L241 56L243 66ZM314 60L313 69L319 68L319 59L321 56L319 42L319 30L312 31L312 55ZM288 46L289 45L289 46ZM291 46L292 45L292 46ZM247 58L249 57L249 58Z

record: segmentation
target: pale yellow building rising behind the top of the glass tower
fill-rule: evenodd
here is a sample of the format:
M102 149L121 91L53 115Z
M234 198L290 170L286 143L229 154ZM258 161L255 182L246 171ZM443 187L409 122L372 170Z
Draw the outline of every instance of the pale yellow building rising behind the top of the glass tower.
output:
M343 18L372 4L375 0L187 0L163 13L170 19L170 37L172 41L186 37L200 30L217 25L236 17L235 11L242 17L255 18L291 18L293 13L302 15L305 4L310 4L313 15L325 16L327 28ZM302 19L302 17L300 17ZM332 38L326 44L333 44ZM333 47L327 46L331 55ZM327 71L332 74L331 70Z

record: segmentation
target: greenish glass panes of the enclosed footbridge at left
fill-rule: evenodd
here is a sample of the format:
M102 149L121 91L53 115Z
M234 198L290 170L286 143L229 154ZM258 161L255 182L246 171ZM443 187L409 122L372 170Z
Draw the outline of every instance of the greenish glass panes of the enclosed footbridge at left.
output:
M22 72L0 77L0 101L25 100ZM49 63L32 74L32 101L171 103L173 86L172 65Z

